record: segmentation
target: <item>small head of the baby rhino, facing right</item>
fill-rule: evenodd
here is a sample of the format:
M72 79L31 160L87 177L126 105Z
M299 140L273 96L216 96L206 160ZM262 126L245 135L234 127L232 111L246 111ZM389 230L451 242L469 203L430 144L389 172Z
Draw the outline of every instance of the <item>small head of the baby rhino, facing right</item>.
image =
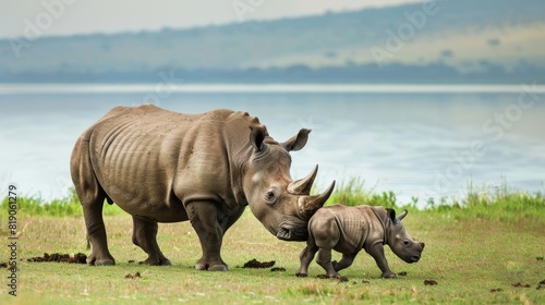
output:
M398 217L393 209L386 209L389 224L385 232L387 236L386 243L390 246L391 251L404 261L412 264L420 260L424 243L416 242L404 229L401 220L407 216L408 211L403 210Z

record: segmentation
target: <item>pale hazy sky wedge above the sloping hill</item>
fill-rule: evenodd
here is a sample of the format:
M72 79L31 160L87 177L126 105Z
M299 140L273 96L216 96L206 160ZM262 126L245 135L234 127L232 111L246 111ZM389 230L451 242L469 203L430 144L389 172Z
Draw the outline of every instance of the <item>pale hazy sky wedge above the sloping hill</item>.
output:
M423 0L2 0L0 37L137 32L320 14ZM235 9L237 8L237 9Z

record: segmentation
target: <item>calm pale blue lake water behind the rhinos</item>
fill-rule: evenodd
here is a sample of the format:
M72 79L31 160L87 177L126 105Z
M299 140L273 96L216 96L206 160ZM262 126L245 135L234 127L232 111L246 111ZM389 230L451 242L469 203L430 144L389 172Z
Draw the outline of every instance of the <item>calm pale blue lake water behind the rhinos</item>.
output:
M361 178L401 203L508 185L545 193L545 87L400 85L0 85L0 186L46 199L72 184L77 136L114 106L215 108L259 118L292 152L292 178L319 164L318 191ZM7 192L7 191L5 191Z

